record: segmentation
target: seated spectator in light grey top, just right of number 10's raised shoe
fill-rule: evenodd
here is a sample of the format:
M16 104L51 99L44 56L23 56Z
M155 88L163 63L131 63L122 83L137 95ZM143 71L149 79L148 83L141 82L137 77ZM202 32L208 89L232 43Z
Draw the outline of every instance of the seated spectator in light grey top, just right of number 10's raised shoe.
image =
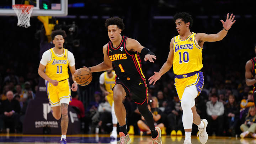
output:
M207 133L208 135L212 135L214 128L216 131L216 135L223 135L223 113L224 113L224 105L222 102L218 101L218 97L216 93L211 94L210 101L206 103L206 111L207 111Z

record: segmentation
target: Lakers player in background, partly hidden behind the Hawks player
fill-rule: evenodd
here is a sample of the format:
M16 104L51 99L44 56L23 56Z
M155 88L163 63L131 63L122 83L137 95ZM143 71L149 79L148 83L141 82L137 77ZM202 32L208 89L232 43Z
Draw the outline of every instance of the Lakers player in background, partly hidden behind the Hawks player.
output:
M116 114L114 113L114 100L113 100L113 87L115 85L115 78L116 73L113 69L107 70L100 75L100 89L105 96L107 96L108 103L112 108L112 123L113 123L113 130L110 135L111 138L117 138L117 118Z

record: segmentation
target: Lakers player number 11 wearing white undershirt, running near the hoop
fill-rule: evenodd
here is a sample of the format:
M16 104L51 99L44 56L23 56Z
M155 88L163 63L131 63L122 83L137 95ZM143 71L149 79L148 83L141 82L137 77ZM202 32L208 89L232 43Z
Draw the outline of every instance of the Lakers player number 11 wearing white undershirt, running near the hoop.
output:
M54 48L43 53L39 64L38 74L46 80L46 88L52 114L55 119L61 119L62 137L61 144L66 144L66 132L68 129L68 105L70 101L70 85L68 66L74 81L75 58L73 53L63 48L65 31L56 30L51 34ZM46 69L44 73L44 69ZM72 84L72 91L77 90L77 84Z

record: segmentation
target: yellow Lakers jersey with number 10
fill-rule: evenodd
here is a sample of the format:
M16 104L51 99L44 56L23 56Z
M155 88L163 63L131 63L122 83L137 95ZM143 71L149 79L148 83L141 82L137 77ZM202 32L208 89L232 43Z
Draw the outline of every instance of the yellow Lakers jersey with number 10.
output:
M185 40L182 40L180 35L174 37L174 74L192 73L203 68L202 48L198 45L195 36L196 33L192 32Z

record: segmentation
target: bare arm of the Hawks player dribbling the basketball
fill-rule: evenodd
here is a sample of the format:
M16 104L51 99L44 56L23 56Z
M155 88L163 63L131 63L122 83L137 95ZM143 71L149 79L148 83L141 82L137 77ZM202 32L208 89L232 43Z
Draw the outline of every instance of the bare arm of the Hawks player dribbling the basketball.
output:
M103 46L103 54L104 54L104 61L98 65L90 67L90 71L93 72L98 72L98 71L105 71L108 69L112 68L112 62L110 58L108 57L108 51L107 51L107 44Z

